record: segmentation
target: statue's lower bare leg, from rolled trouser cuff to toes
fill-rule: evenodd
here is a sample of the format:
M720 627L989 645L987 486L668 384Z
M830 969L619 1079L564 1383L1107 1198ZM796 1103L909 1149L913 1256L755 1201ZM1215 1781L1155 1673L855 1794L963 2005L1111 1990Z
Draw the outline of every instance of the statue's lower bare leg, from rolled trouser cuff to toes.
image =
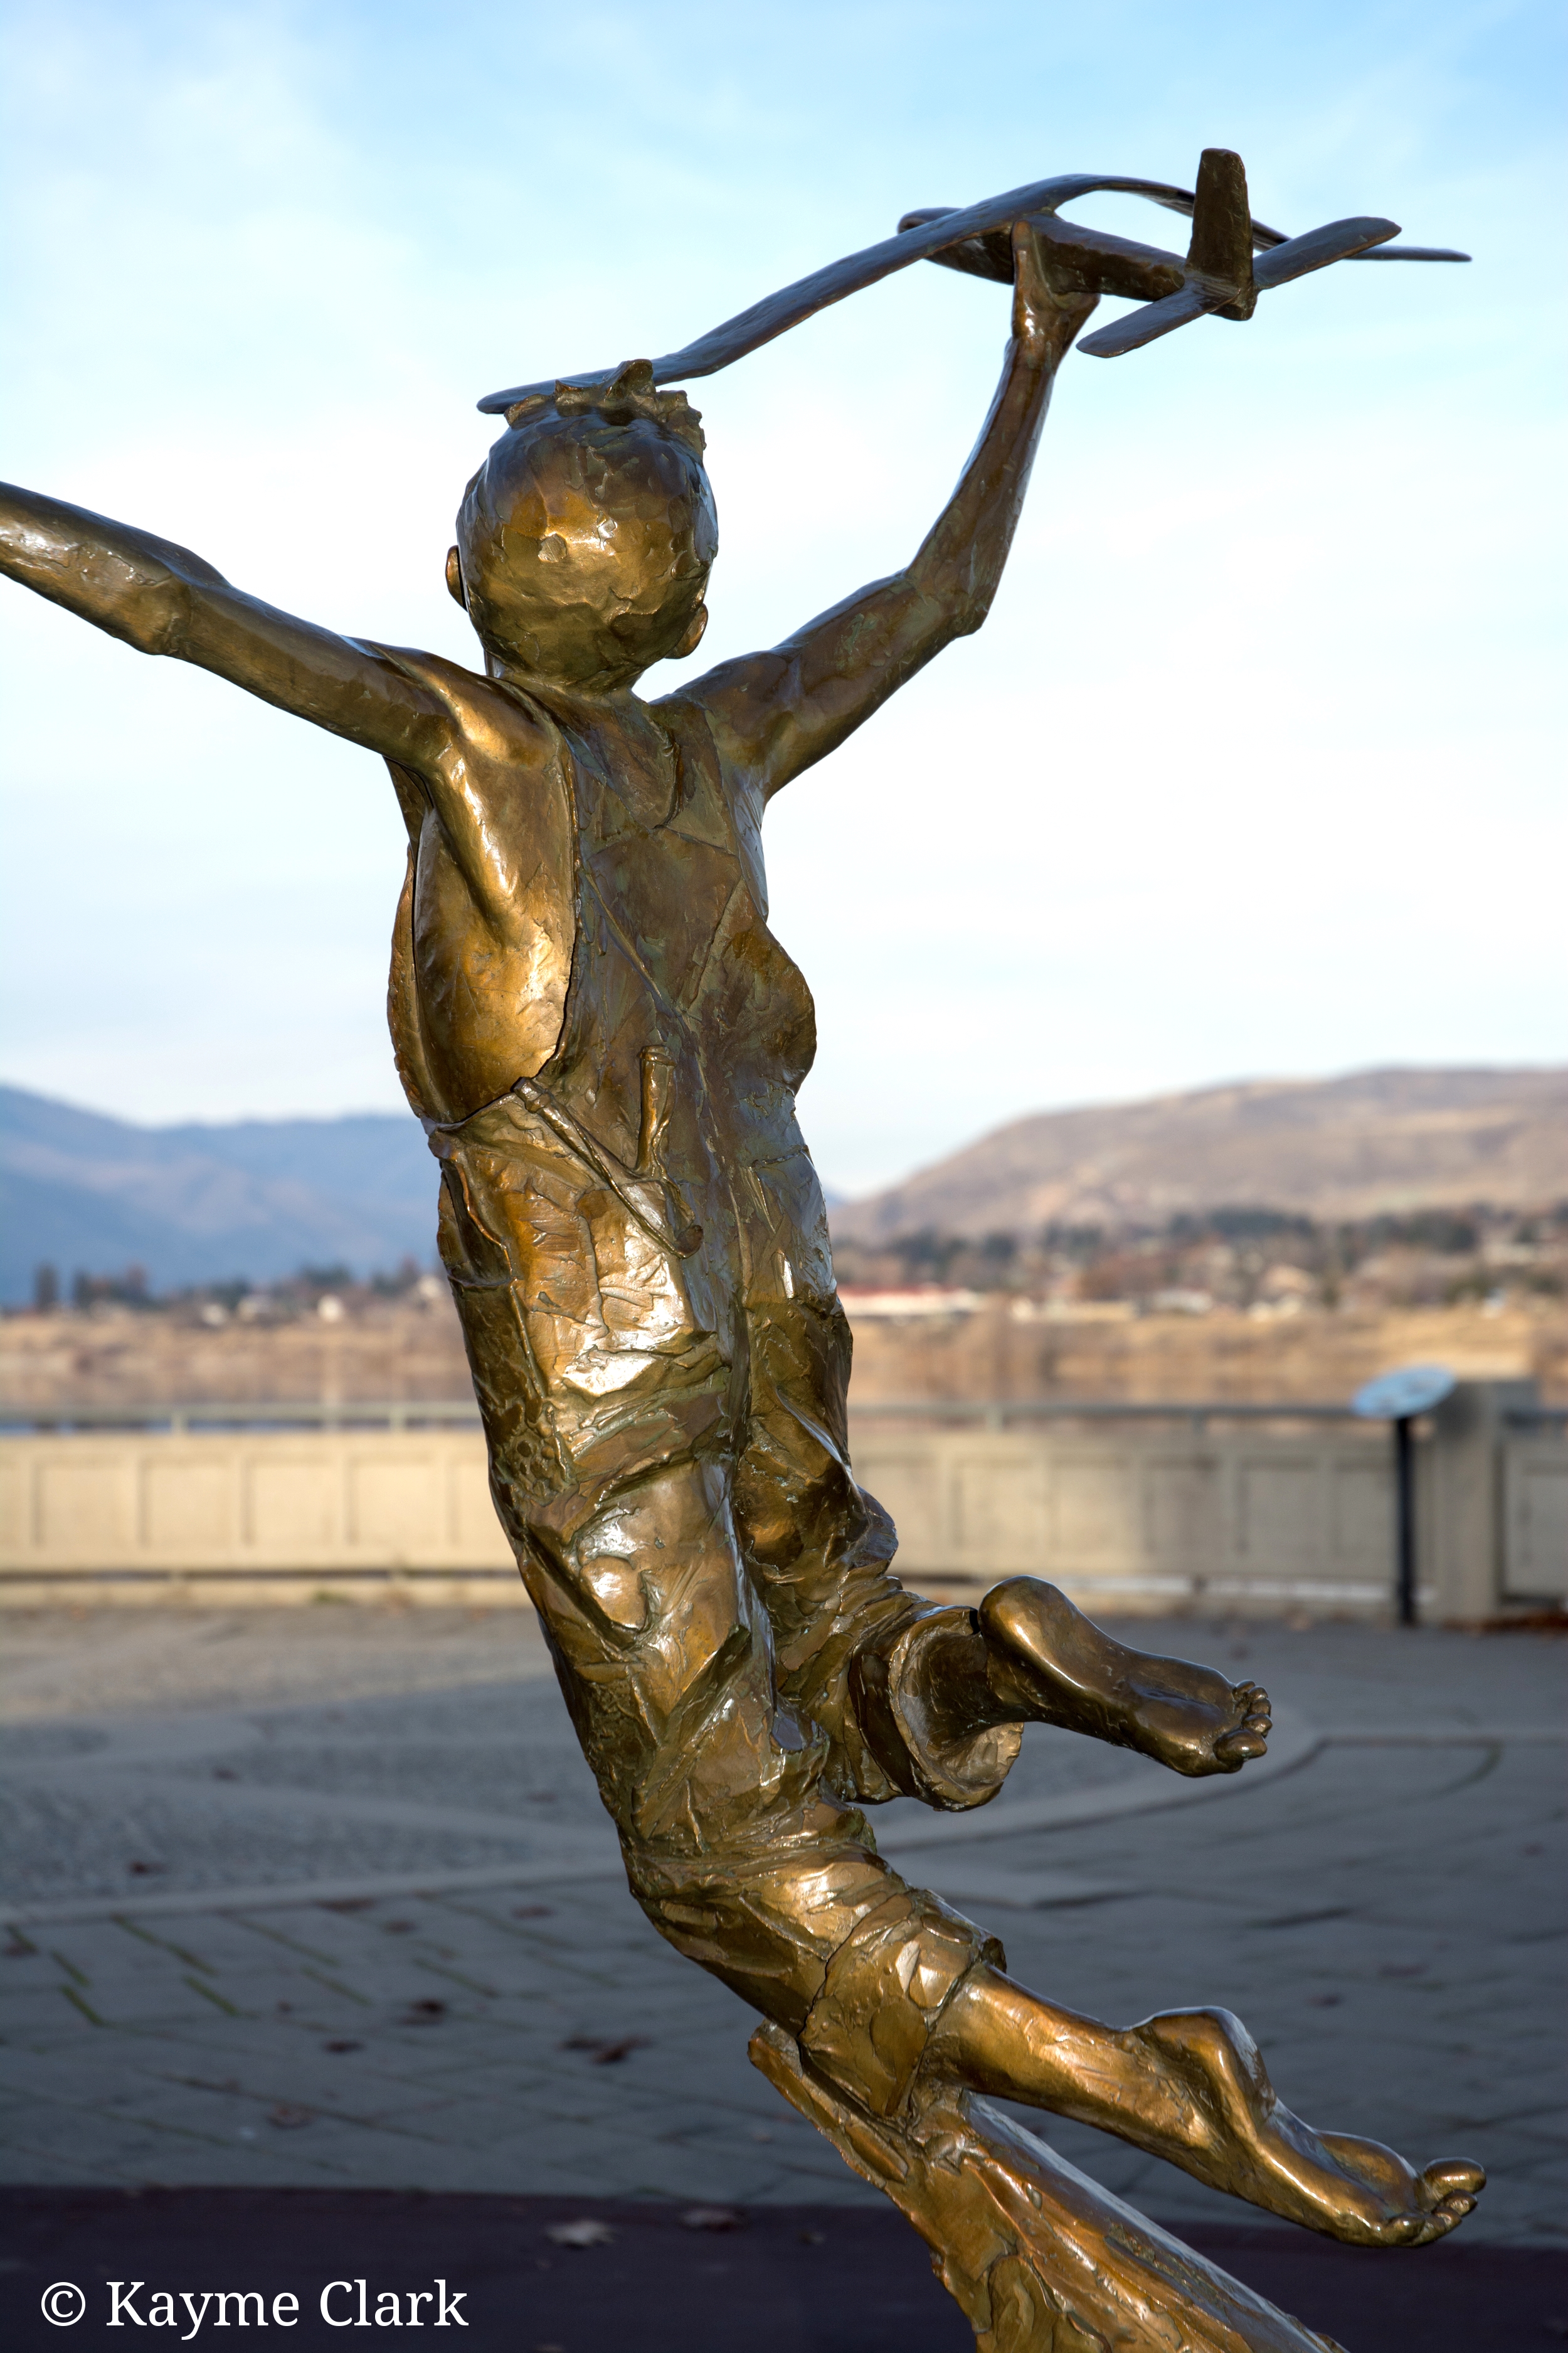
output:
M1441 2238L1486 2184L1467 2160L1418 2172L1380 2141L1302 2125L1227 2009L1112 2028L980 1962L943 2009L926 2071L1098 2125L1211 2188L1359 2247Z

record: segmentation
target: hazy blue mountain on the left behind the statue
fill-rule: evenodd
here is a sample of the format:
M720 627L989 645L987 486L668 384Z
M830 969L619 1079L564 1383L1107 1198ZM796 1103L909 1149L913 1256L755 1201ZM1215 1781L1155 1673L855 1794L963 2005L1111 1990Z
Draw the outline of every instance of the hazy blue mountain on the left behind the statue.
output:
M66 1285L139 1264L153 1289L430 1261L435 1181L409 1113L132 1127L0 1087L0 1301L42 1261Z

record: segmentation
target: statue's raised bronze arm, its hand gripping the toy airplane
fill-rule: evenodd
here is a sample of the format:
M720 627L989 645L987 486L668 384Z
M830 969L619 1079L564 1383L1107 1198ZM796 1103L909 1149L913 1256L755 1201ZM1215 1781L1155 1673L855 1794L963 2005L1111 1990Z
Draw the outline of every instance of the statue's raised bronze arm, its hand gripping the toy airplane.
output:
M719 664L679 692L705 711L726 762L764 795L835 751L952 638L980 628L1013 544L1051 381L1091 311L1091 294L1051 289L1039 238L1020 221L1001 384L914 560L771 652Z

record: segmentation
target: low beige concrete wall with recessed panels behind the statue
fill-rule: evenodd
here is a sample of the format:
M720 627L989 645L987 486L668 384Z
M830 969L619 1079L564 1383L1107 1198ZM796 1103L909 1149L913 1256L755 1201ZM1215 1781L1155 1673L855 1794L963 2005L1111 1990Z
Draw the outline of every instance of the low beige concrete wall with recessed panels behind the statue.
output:
M1467 1384L1418 1449L1422 1609L1568 1593L1568 1445L1528 1384ZM1514 1419L1509 1419L1514 1417ZM1387 1609L1382 1426L900 1426L860 1480L926 1591L1051 1577L1091 1609ZM522 1600L477 1428L99 1431L0 1438L0 1600Z

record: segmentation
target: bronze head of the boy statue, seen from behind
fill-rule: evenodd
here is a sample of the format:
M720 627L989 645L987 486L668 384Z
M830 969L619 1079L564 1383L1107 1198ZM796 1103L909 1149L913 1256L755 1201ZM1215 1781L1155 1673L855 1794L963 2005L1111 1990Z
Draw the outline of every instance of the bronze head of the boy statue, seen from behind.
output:
M689 654L719 546L703 431L646 360L508 409L468 485L447 584L505 668L609 694Z

